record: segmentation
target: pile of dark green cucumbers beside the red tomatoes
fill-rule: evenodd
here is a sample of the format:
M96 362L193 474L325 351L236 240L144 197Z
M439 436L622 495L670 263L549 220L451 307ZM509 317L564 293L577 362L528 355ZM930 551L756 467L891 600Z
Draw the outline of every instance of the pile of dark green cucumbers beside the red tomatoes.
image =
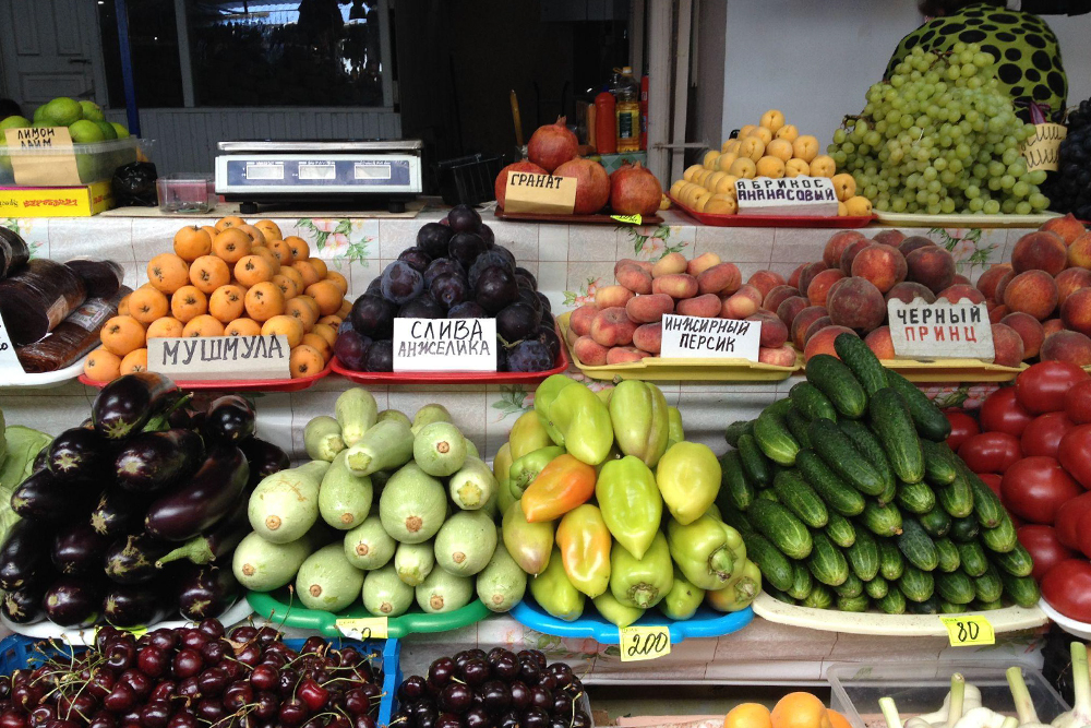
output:
M718 505L766 590L889 614L1039 600L1030 553L996 494L947 446L947 418L856 336L726 433Z

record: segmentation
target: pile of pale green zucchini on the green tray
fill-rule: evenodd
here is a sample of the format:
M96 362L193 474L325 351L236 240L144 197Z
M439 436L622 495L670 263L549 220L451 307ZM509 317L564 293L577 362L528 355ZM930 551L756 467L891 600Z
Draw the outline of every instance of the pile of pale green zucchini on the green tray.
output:
M526 575L497 539L492 470L442 405L379 411L362 387L303 433L311 462L265 478L250 498L253 533L233 571L253 592L295 582L308 609L358 600L376 617L413 602L448 612L481 598L507 611Z

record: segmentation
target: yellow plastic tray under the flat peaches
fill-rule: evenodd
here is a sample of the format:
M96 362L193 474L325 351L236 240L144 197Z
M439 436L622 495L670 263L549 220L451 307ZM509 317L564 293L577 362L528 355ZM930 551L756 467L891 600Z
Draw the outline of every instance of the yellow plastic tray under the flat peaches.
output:
M571 312L558 317L561 335L567 345L568 318ZM570 349L571 350L571 349ZM622 365L606 365L589 367L583 363L575 351L572 361L580 372L591 379L614 381L619 379L639 379L649 382L675 381L718 381L718 382L780 382L802 367L802 357L795 358L794 367L774 367L747 359L660 359L648 357L643 361L632 361Z

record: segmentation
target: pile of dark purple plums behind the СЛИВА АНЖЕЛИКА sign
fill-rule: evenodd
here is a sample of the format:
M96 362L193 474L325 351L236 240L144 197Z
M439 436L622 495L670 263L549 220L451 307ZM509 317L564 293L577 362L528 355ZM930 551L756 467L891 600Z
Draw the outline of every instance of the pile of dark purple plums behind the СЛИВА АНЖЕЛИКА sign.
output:
M356 299L351 323L334 345L352 371L394 368L394 319L496 319L499 371L544 371L556 366L561 339L550 302L530 271L495 242L469 205L442 223L428 223Z

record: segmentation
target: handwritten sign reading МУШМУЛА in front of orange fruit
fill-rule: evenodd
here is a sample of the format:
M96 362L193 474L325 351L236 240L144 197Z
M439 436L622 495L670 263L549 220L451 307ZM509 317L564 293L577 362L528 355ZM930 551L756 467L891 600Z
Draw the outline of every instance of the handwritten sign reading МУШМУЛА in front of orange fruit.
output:
M288 379L288 337L149 338L147 370L180 380Z

